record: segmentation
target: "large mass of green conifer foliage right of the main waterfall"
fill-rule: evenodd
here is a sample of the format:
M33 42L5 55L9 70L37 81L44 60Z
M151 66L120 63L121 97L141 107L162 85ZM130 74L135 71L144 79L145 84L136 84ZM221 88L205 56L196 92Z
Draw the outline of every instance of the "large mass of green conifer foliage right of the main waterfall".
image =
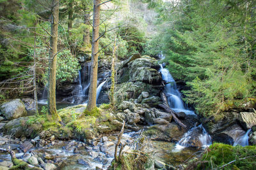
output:
M256 24L248 24L255 20L253 6L255 1L239 0L156 6L159 34L147 43L146 52L164 53L173 78L190 87L185 101L201 115L221 118L223 111L242 107L255 96Z

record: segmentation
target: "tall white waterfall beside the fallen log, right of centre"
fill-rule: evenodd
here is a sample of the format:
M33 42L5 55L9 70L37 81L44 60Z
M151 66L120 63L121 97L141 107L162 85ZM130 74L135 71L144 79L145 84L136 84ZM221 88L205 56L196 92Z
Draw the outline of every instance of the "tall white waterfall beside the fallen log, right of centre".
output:
M160 66L160 72L162 74L163 80L166 83L164 86L164 93L168 99L169 106L176 112L184 112L186 115L195 115L194 111L185 108L185 105L180 98L181 94L177 89L177 85L172 77L172 74L170 74L168 69L165 69L162 64Z

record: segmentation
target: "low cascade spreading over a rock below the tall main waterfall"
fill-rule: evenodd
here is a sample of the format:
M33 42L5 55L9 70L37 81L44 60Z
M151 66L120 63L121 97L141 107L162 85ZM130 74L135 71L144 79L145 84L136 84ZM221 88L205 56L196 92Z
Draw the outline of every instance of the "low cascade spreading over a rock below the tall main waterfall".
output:
M179 152L186 147L206 148L211 145L211 136L205 131L204 127L198 125L186 132L183 138L175 146L173 152Z

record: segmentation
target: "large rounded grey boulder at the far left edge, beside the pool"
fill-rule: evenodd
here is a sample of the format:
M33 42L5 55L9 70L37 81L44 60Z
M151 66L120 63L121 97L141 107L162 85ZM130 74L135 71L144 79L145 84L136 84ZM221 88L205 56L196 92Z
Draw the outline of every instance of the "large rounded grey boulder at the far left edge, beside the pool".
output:
M19 117L26 117L27 111L24 103L20 99L13 99L0 106L0 110L7 120Z

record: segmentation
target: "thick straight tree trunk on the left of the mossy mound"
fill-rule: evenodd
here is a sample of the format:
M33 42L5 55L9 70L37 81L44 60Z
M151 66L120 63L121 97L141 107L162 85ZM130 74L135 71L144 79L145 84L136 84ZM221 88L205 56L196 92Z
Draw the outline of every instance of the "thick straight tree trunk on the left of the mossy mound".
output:
M58 45L59 0L52 0L51 16L51 48L49 52L49 85L48 85L48 111L52 117L58 118L56 110L56 64Z

